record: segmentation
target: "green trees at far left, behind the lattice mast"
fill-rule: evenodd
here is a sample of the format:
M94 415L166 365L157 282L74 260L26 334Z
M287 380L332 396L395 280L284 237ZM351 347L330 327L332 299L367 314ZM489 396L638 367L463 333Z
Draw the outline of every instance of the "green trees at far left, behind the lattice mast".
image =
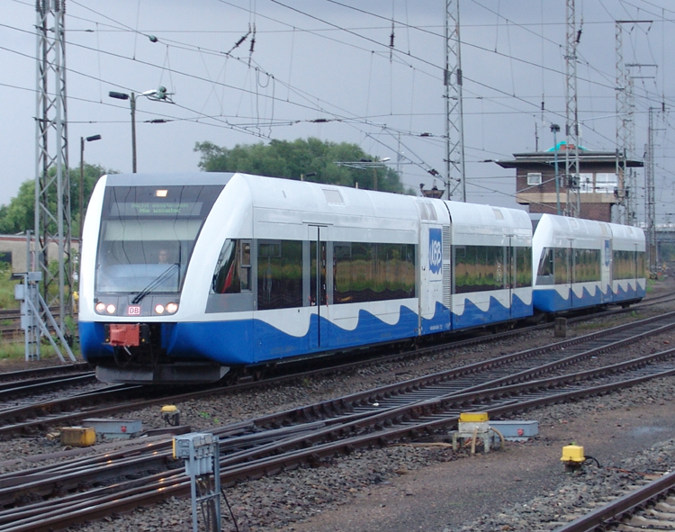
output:
M84 192L85 209L89 203L89 197L94 191L94 185L98 178L105 174L114 174L113 170L106 170L98 165L89 165L85 163L84 167ZM56 168L52 167L52 174L56 173ZM71 231L73 237L78 237L79 231L79 190L80 190L80 170L79 167L70 169L70 217ZM49 197L50 209L56 210L57 198ZM10 201L9 205L0 206L0 234L23 233L25 230L33 230L35 227L35 181L24 181L19 187L19 193ZM56 228L52 231L56 233Z

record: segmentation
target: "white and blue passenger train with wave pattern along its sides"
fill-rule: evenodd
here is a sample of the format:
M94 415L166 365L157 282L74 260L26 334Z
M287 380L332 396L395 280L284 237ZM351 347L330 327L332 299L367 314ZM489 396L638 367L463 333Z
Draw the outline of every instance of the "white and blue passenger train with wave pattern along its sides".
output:
M106 383L214 383L286 361L644 297L644 232L242 173L108 175L78 327Z

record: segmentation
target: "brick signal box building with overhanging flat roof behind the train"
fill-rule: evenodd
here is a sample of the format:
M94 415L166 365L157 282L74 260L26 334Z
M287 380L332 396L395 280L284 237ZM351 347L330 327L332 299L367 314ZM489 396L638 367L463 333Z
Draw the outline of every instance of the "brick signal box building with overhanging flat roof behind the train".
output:
M559 193L555 190L555 155L557 149ZM557 212L558 196L561 212L565 212L567 184L565 183L564 142L547 151L514 153L513 160L495 161L502 168L516 168L516 201L528 205L529 212ZM571 146L571 149L573 147ZM570 153L572 156L572 153ZM626 167L643 167L641 160L627 159ZM619 203L624 189L623 160L612 151L579 149L579 195L581 218L612 221L612 207ZM626 194L631 194L626 190Z

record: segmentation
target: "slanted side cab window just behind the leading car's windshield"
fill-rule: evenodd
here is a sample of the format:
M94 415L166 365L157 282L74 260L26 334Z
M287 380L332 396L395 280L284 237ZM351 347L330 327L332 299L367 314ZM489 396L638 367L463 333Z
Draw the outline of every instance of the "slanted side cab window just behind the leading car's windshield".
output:
M227 239L213 272L211 293L241 293L250 290L251 241Z

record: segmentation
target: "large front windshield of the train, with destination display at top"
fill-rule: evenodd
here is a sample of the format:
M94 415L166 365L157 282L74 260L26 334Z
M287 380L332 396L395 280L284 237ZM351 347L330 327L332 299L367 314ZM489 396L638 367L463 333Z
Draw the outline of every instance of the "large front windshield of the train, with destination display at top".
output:
M105 190L97 293L177 293L220 185Z

